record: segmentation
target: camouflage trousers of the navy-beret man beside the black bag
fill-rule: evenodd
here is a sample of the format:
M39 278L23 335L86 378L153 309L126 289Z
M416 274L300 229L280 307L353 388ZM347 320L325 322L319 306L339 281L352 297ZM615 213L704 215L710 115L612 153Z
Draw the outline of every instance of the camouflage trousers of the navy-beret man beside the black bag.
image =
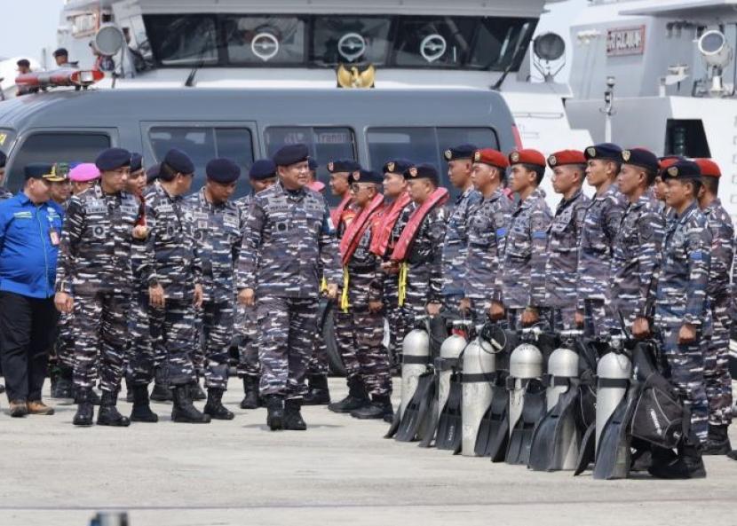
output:
M704 357L701 334L692 343L678 343L681 326L661 326L662 352L668 364L666 376L691 410L691 428L701 442L708 432L709 404L704 389ZM700 332L701 333L701 332Z

